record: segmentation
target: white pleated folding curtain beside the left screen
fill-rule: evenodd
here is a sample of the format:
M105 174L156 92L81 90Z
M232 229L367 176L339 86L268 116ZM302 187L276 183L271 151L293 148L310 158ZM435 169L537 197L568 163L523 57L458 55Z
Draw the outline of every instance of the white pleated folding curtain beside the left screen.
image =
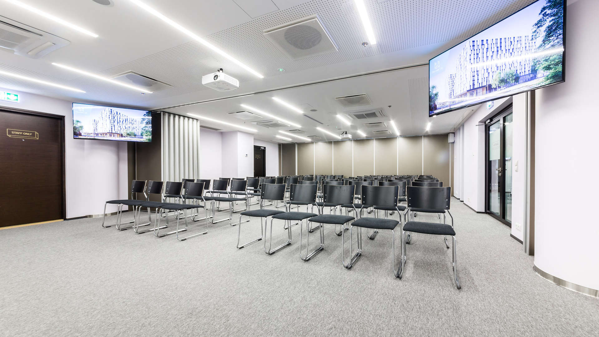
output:
M199 178L199 121L162 113L162 180Z

